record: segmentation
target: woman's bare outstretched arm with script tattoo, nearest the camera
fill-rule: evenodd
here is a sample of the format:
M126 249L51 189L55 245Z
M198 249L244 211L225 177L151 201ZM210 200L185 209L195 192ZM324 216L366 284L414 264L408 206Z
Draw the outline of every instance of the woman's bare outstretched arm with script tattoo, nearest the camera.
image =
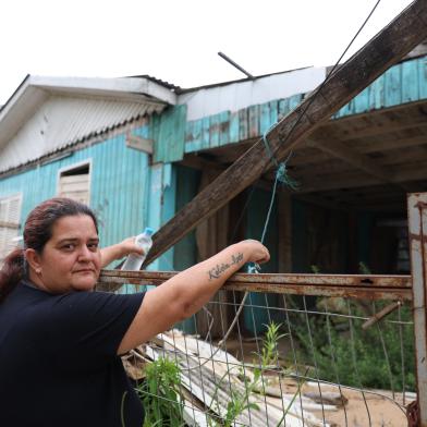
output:
M197 313L245 263L266 263L269 259L268 249L261 243L243 241L147 292L118 354L134 349Z

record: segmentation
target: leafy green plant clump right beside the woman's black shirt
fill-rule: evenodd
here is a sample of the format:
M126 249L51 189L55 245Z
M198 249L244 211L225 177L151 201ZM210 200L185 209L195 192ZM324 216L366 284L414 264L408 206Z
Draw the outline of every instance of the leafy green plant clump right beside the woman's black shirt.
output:
M144 427L185 425L178 364L160 357L146 366L145 375L145 381L136 389L145 410Z

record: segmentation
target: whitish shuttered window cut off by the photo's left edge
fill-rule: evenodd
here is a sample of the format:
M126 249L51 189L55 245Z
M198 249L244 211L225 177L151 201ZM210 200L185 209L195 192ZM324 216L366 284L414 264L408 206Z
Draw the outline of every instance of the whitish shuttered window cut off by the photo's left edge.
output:
M21 217L21 194L0 198L0 265L17 246Z

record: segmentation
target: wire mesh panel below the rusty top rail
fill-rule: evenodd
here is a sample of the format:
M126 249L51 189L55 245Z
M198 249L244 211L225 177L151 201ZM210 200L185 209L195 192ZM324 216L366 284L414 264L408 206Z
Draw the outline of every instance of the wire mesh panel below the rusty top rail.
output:
M257 291L243 301L222 290L126 356L152 424L407 425L416 399L407 301Z

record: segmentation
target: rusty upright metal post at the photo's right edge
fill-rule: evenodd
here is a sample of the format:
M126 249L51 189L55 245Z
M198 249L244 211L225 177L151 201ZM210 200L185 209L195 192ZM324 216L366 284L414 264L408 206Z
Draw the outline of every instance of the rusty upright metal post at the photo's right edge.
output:
M407 215L413 280L418 425L427 427L427 193L410 194Z

